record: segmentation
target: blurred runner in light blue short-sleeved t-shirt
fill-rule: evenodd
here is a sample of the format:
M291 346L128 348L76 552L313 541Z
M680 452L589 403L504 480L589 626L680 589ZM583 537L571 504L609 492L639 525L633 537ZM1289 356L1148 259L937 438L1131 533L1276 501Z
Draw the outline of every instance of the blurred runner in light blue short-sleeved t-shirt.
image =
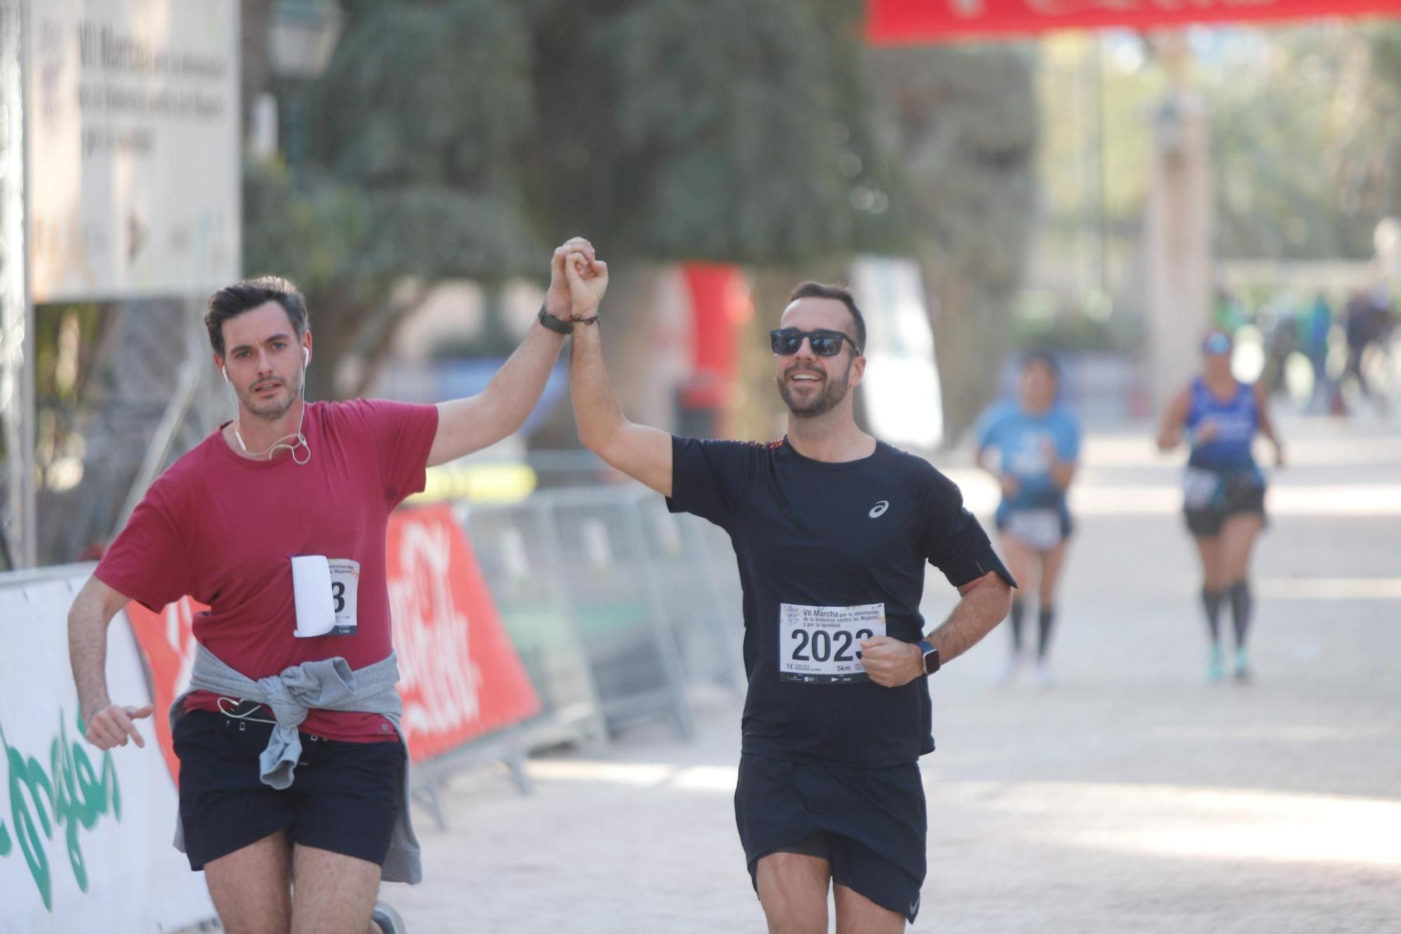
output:
M1070 510L1065 491L1080 460L1080 419L1058 401L1061 372L1055 358L1031 352L1021 359L1021 381L1014 402L999 402L978 424L978 464L1002 487L998 532L1012 575L1037 588L1037 675L1049 682L1047 655L1055 621L1055 595L1070 539ZM996 449L996 466L986 463ZM1020 575L1017 576L1020 569ZM1012 656L1003 680L1021 662L1023 590L1012 599Z

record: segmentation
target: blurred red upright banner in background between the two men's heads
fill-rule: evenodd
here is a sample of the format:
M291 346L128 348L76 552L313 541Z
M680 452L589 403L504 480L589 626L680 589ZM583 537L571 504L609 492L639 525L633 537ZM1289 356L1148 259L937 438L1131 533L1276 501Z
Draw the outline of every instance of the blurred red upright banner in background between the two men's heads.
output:
M734 384L734 332L748 313L748 295L738 266L686 262L681 266L691 293L695 331L693 374L681 393L686 408L723 410Z

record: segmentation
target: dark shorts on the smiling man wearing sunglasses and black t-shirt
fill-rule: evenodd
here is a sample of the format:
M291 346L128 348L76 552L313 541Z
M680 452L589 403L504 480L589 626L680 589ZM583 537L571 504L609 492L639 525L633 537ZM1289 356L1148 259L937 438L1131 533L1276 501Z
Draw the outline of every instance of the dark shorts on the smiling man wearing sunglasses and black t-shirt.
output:
M771 853L831 862L836 885L913 921L925 882L925 787L919 766L806 766L744 753L734 819L758 891Z

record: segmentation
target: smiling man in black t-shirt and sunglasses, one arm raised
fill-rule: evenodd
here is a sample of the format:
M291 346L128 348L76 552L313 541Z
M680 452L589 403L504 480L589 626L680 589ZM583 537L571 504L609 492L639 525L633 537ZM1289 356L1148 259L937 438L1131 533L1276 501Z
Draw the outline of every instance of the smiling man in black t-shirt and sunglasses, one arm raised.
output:
M958 488L852 418L866 325L849 292L799 286L772 332L789 432L672 438L623 418L597 327L608 266L566 262L580 440L730 533L744 585L736 820L771 931L902 931L925 879L927 675L1007 614L1016 586ZM927 637L929 561L962 600Z

